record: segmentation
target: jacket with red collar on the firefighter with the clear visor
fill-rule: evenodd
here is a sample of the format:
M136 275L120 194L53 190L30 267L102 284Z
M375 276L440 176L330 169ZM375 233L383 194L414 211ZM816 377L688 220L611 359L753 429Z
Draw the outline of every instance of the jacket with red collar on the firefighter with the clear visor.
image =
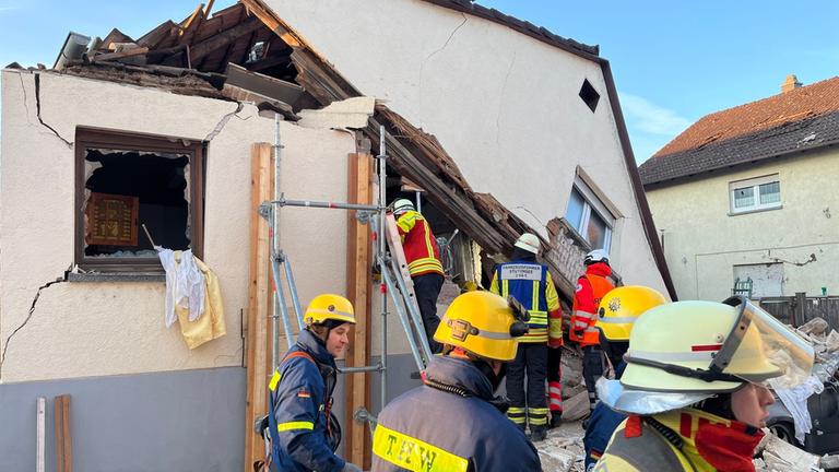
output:
M764 437L758 428L694 409L661 413L652 420L658 425L640 416L621 423L593 471L755 470L752 456Z

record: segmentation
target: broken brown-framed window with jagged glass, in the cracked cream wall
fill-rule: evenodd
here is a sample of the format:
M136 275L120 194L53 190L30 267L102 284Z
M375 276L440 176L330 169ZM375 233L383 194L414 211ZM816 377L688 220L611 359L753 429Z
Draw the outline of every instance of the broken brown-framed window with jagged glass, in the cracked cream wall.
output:
M200 256L201 142L80 130L75 152L80 268L162 271L152 240Z

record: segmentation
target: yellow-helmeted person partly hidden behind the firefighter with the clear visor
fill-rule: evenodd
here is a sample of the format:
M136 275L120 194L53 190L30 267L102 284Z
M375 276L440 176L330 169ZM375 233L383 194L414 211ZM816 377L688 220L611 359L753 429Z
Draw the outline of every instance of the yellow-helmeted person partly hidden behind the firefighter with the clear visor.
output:
M635 320L645 311L666 303L664 295L645 286L628 285L611 291L600 303L596 328L600 330L600 346L621 379L626 364L624 354L629 347L629 333ZM586 449L586 470L594 468L603 450L626 415L598 402L591 412L582 444Z

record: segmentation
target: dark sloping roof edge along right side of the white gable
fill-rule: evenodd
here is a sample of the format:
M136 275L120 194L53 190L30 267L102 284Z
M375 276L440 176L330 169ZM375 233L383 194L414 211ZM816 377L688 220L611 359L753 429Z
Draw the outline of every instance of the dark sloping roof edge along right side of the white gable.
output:
M633 182L635 200L638 202L638 209L641 212L643 232L647 235L647 240L652 250L652 257L655 260L655 267L659 269L659 273L661 273L661 279L664 281L664 286L667 288L670 298L673 302L676 302L678 299L676 287L673 285L673 279L670 275L670 269L667 269L667 261L664 259L664 250L661 248L661 241L659 240L658 232L655 231L655 223L652 221L650 205L647 202L647 194L643 192L641 176L638 174L638 165L635 163L635 154L633 153L633 146L629 143L629 133L626 130L624 114L621 111L621 102L617 97L617 88L615 87L615 79L612 75L612 67L608 64L608 61L603 58L598 58L598 62L600 62L600 67L603 70L603 79L606 81L608 103L612 106L612 115L615 117L617 135L621 139L621 149L624 152L626 169L629 174L629 179Z

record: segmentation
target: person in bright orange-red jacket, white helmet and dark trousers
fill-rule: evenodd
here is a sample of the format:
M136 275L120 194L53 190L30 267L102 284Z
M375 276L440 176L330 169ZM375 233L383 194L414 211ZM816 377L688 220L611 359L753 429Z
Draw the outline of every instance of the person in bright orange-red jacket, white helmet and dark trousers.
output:
M612 268L608 266L606 251L595 249L587 253L583 263L586 273L577 280L569 338L582 349L582 378L589 391L589 409L594 410L598 402L594 385L603 375L603 351L600 349L600 335L594 327L598 321L595 312L601 299L614 285L607 279L612 275Z

